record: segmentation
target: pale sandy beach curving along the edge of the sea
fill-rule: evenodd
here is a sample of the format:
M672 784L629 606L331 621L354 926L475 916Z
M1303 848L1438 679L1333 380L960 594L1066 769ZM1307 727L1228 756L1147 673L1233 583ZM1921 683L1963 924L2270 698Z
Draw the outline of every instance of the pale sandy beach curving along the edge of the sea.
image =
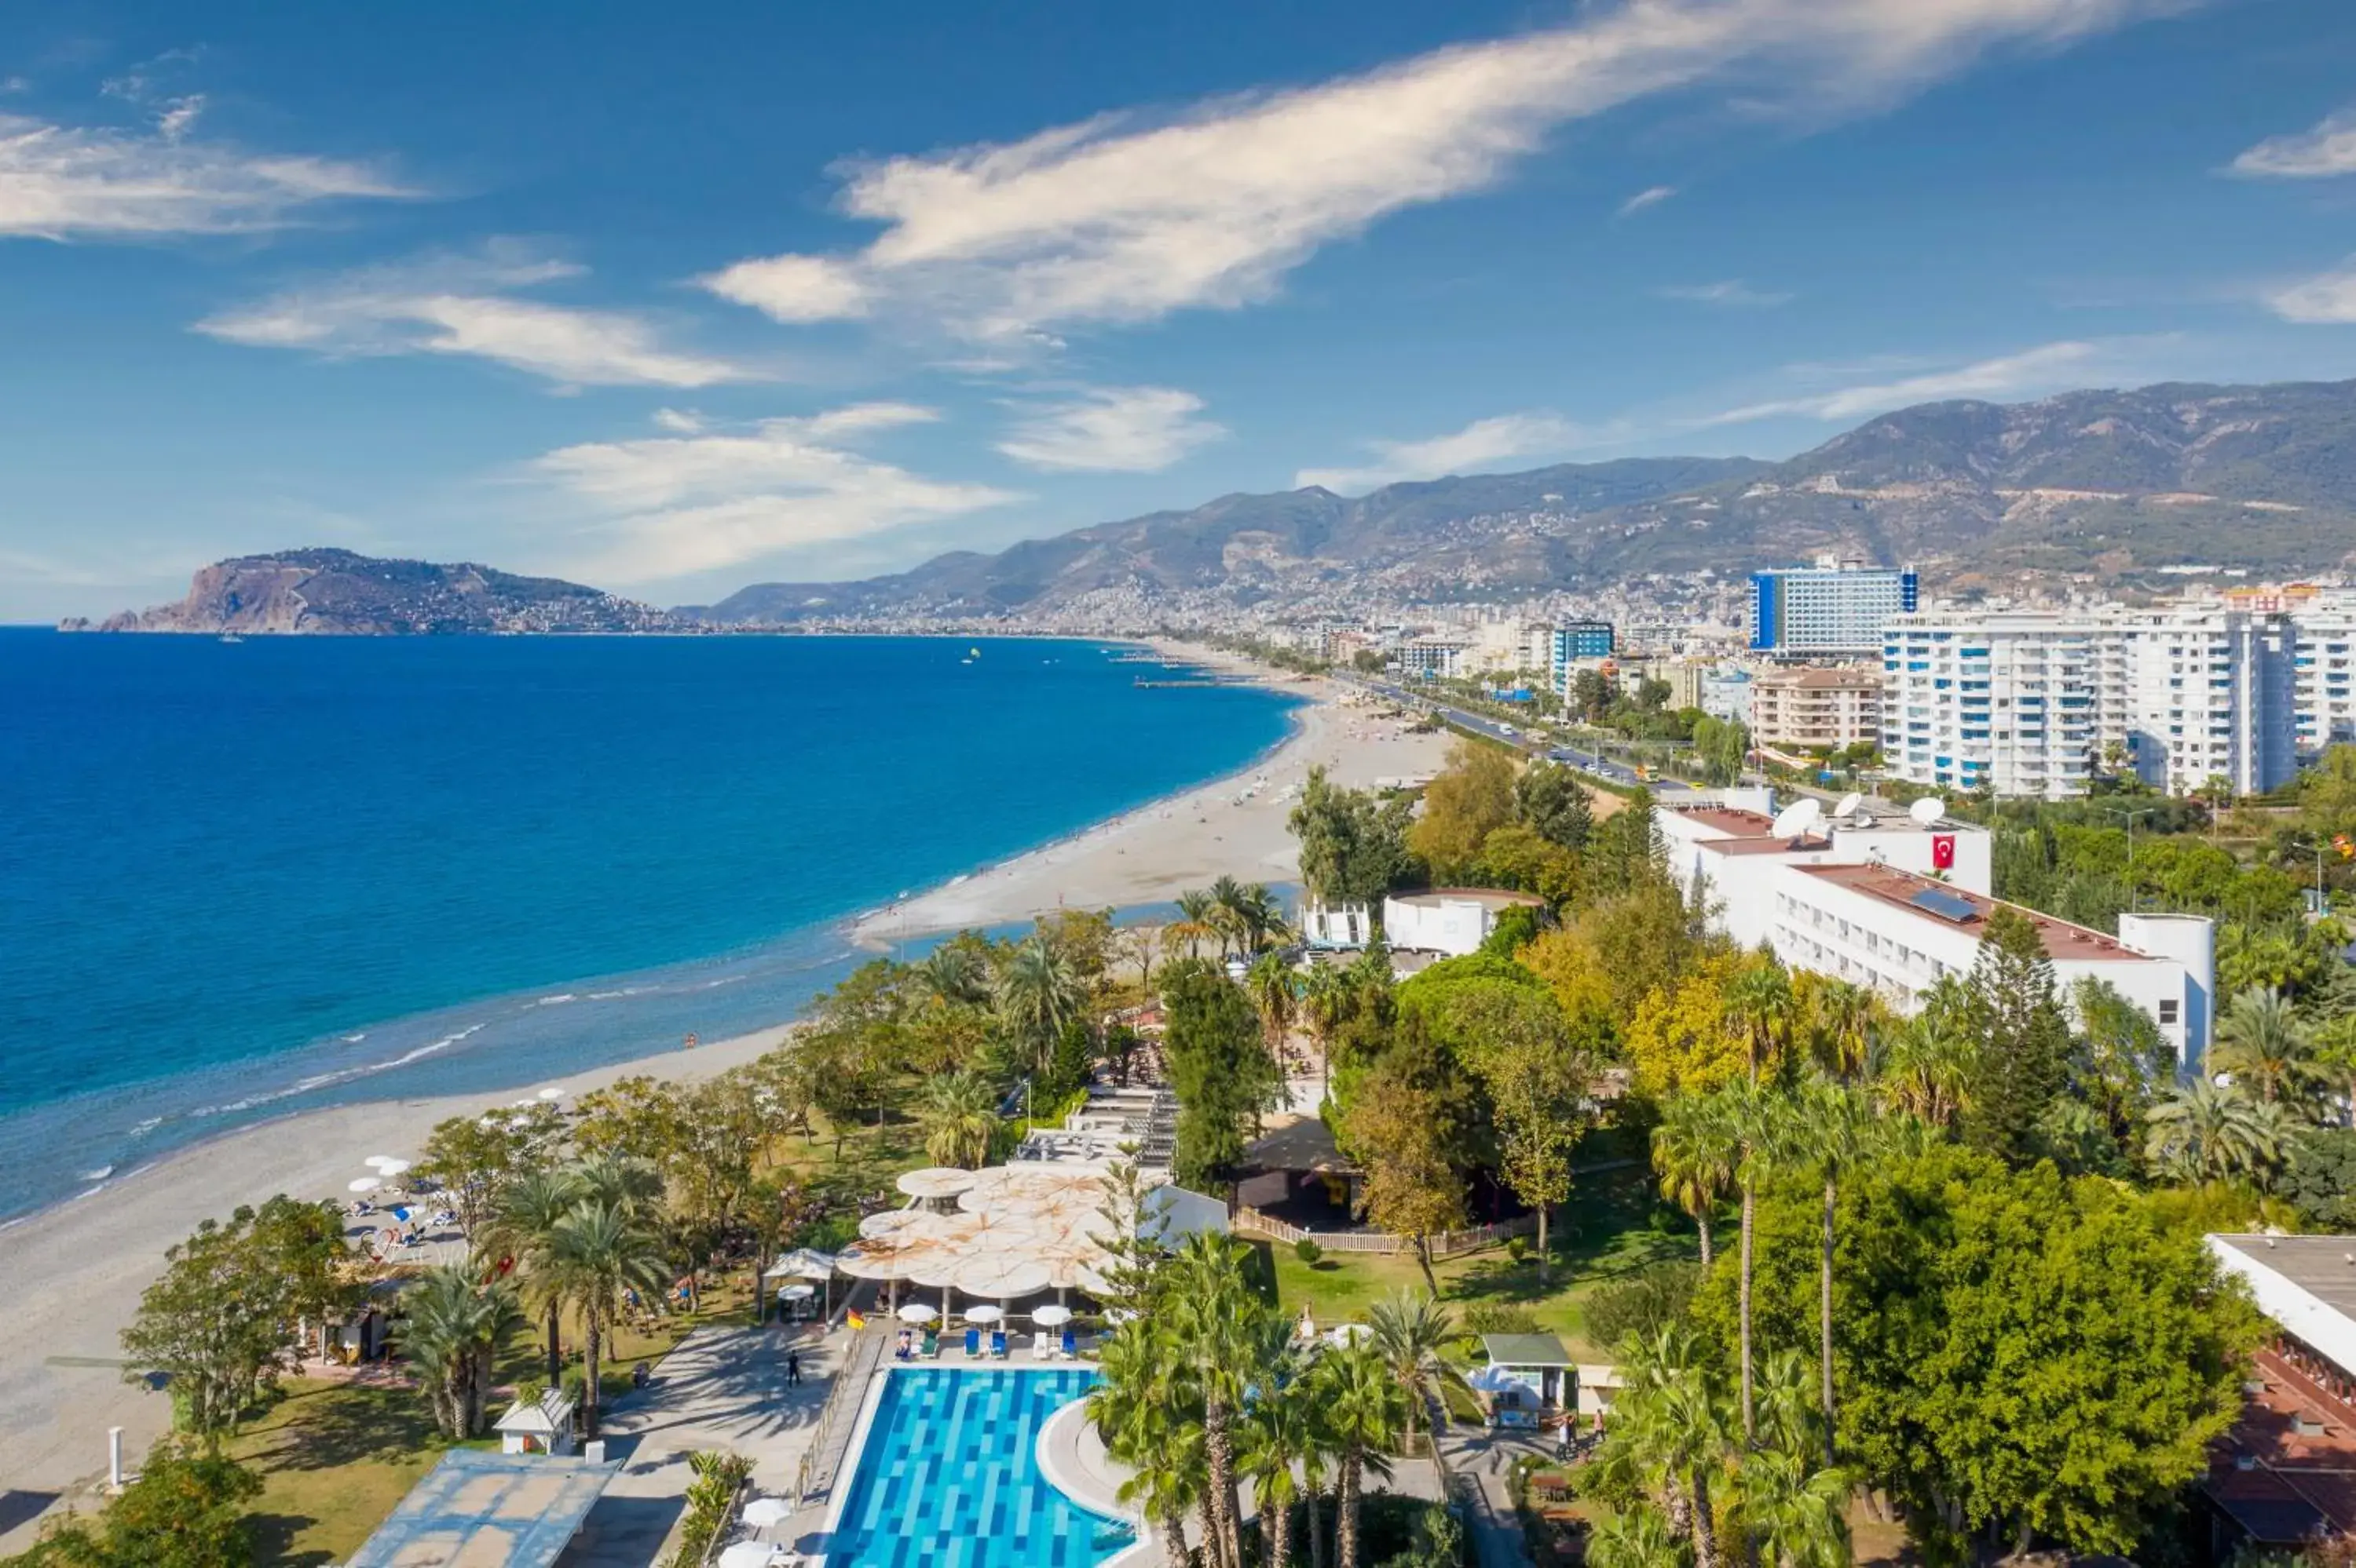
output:
M902 935L1001 925L1058 904L1084 909L1152 904L1227 873L1291 881L1293 841L1284 826L1301 782L1326 765L1343 784L1435 772L1447 735L1409 735L1374 709L1343 702L1326 680L1270 676L1263 666L1199 647L1166 645L1192 664L1301 692L1296 732L1239 775L1159 800L1084 833L959 878L905 904L869 913L860 939L886 946ZM785 1026L582 1071L580 1092L653 1071L695 1078L775 1048ZM273 1194L342 1198L365 1175L370 1154L412 1154L448 1118L504 1104L509 1092L441 1099L384 1099L311 1111L172 1154L155 1165L0 1229L0 1278L9 1281L0 1335L0 1554L31 1544L28 1509L64 1493L87 1507L106 1474L106 1429L123 1427L139 1455L170 1422L160 1394L123 1382L118 1333L155 1276L165 1248L198 1222Z

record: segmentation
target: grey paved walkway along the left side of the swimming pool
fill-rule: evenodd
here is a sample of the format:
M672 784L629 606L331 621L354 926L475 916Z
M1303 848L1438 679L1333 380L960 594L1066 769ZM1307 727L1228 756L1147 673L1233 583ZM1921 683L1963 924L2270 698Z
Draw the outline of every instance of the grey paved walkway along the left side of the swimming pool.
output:
M695 1479L688 1455L700 1448L749 1457L754 1490L789 1495L843 1344L843 1330L787 1335L775 1323L700 1328L681 1340L646 1391L605 1410L605 1455L622 1469L563 1568L653 1568ZM787 1349L801 1351L801 1384L785 1380Z

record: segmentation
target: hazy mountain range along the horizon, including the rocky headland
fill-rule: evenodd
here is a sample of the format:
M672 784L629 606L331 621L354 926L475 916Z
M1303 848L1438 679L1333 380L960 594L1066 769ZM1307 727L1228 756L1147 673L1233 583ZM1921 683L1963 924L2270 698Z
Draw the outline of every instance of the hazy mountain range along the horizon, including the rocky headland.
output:
M2168 565L2356 560L2356 381L2163 384L1925 403L1788 461L1630 457L1527 473L1227 494L862 582L653 610L547 577L306 549L224 560L113 631L664 631L846 622L1152 626L1286 603L1498 600L1819 553L1932 586L2137 582Z

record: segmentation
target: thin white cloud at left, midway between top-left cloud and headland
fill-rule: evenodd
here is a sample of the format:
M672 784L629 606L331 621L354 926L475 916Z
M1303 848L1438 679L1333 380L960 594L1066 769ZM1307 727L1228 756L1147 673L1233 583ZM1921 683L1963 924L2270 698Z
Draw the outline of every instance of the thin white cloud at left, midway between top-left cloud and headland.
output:
M481 257L363 268L210 315L196 330L231 344L327 356L464 353L565 388L693 388L761 379L744 365L664 348L636 315L577 311L507 292L582 271L514 245L492 245Z

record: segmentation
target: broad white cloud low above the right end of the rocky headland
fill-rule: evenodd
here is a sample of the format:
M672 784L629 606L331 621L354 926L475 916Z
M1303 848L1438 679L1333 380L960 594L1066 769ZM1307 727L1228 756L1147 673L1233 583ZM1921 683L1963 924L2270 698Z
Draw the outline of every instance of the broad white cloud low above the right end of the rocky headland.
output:
M568 570L589 582L664 582L1020 499L841 445L933 417L907 403L858 403L737 431L561 447L530 473L587 516L587 553Z

